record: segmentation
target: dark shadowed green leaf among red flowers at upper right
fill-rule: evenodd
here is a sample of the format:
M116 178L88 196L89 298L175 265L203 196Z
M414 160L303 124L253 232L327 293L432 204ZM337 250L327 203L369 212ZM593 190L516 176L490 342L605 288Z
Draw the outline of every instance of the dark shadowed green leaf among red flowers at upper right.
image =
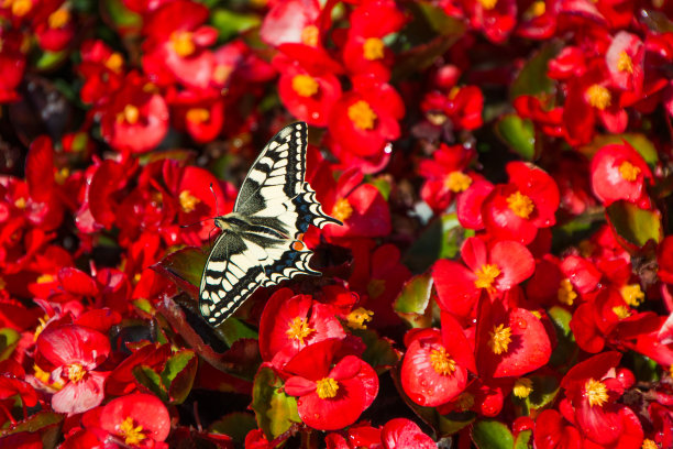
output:
M509 98L514 100L522 95L551 97L554 92L554 81L547 75L547 67L561 48L562 42L556 41L543 46L536 53L511 84Z

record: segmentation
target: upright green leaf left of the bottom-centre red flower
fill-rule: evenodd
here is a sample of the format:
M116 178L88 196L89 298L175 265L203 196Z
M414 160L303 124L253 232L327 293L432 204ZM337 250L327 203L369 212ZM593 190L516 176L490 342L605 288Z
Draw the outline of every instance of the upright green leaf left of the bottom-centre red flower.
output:
M283 392L283 381L273 370L262 368L255 376L251 408L260 428L267 437L276 438L295 423L300 423L297 399Z

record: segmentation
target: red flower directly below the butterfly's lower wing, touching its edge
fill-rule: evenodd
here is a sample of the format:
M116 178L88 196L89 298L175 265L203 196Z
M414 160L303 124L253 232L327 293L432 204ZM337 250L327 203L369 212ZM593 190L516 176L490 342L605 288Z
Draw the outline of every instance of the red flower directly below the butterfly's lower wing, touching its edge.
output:
M262 359L277 369L312 343L344 337L333 307L308 295L295 295L289 288L274 293L260 319Z

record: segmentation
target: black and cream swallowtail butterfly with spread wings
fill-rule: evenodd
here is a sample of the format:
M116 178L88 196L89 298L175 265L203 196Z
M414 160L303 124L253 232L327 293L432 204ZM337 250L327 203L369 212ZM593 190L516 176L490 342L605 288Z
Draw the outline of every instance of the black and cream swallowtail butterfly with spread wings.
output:
M199 309L211 326L229 318L258 287L299 274L313 253L301 241L309 225L341 221L326 215L304 180L307 125L285 127L262 150L243 180L233 211L216 217L222 230L201 275Z

